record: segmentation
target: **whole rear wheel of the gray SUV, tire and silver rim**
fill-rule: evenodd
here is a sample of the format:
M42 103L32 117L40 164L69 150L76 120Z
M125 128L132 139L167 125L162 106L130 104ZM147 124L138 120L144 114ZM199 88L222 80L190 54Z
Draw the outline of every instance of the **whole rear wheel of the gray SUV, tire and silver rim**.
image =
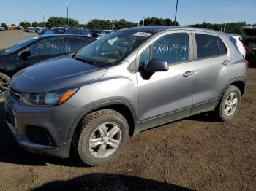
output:
M234 85L229 85L215 112L222 121L232 120L241 103L241 91Z

